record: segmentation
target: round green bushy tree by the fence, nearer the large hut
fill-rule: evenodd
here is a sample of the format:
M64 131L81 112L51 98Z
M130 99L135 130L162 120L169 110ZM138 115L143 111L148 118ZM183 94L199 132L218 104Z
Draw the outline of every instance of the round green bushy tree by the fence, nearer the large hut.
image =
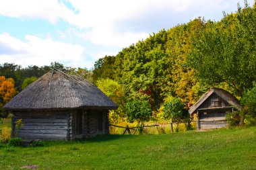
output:
M130 101L125 104L124 112L128 122L137 121L139 126L143 126L143 123L148 121L150 116L152 116L150 103L148 103L148 101Z

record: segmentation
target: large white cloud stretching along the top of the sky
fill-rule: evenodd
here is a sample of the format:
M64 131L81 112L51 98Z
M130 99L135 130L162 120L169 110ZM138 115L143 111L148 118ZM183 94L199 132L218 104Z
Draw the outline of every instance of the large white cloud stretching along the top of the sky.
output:
M242 0L237 0L242 2ZM252 1L252 0L249 0ZM66 3L71 4L75 11L69 9ZM166 11L160 17L179 17L179 13L193 12L190 19L204 16L207 11L223 11L224 7L234 4L234 1L216 0L0 0L0 15L8 17L42 18L51 23L63 20L72 26L85 31L82 34L86 40L95 44L108 46L127 46L146 38L152 32L120 31L119 22L137 19L141 16ZM236 5L236 4L235 4ZM177 12L178 16L170 16L170 11ZM168 15L169 14L169 15ZM207 17L207 16L206 16ZM209 18L210 19L210 18ZM166 21L165 19L163 19ZM143 24L143 21L141 21ZM160 28L159 30L161 30Z

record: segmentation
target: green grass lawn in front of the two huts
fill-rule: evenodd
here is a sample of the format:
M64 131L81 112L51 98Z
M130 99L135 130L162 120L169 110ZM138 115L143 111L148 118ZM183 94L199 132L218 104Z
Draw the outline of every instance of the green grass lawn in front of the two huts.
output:
M256 127L0 146L0 169L256 169Z

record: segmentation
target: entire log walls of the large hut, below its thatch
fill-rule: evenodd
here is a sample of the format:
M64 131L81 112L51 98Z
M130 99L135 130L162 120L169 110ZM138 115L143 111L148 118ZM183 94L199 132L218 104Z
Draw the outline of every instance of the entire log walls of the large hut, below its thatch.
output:
M22 119L18 137L24 139L73 140L109 134L106 110L15 112L13 115L12 136L15 136L14 130L17 129L15 122Z

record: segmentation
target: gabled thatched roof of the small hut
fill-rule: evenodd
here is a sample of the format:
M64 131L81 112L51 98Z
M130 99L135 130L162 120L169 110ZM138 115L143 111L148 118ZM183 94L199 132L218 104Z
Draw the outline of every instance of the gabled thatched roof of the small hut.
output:
M195 112L195 110L197 110L197 108L199 108L199 106L203 103L203 101L205 101L208 97L210 97L210 95L212 95L212 93L216 93L218 96L222 97L222 99L224 99L226 102L228 102L230 105L234 106L234 108L241 110L241 105L240 105L238 99L236 99L236 97L234 97L234 95L232 95L231 93L229 93L228 91L226 91L224 89L213 87L209 91L204 93L200 97L200 99L190 108L189 114L193 114L193 112Z

